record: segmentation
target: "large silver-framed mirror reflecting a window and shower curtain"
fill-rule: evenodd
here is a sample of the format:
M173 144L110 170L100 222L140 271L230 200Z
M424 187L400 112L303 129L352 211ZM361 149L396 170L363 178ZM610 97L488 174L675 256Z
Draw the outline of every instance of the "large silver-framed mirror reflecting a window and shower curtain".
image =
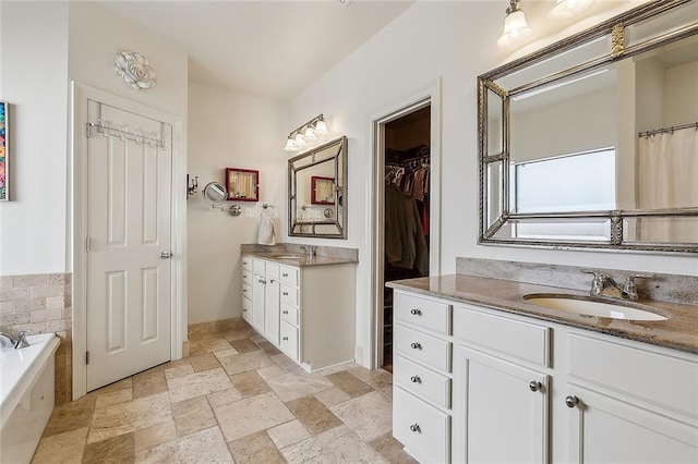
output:
M483 244L698 253L698 1L478 78Z

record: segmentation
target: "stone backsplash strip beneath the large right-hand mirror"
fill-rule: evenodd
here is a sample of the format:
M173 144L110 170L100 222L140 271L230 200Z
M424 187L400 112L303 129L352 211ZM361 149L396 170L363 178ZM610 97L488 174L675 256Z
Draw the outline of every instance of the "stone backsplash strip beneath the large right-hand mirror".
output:
M592 276L581 273L579 269L582 268L495 259L456 258L456 272L460 274L588 291L591 288ZM605 271L618 283L623 283L628 276L634 273L646 273L631 270L593 269ZM698 306L698 277L652 273L654 276L652 279L636 280L640 298Z

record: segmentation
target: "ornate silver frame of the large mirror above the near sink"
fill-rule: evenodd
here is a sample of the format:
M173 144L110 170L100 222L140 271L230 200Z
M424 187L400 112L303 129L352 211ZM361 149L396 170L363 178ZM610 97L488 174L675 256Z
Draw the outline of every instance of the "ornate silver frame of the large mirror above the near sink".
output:
M694 49L698 49L697 3L691 0L646 3L478 77L479 243L569 249L698 253L698 198L684 199L685 204L679 207L642 207L637 200L642 181L639 180L638 174L635 174L636 178L631 180L634 192L630 193L630 202L618 200L607 208L549 207L545 209L539 207L527 211L526 208L520 207L520 202L516 198L520 195L521 183L517 186L517 174L514 169L517 161L512 156L522 145L518 144L518 141L513 143L513 101L515 106L521 106L518 100L528 96L551 94L549 91L551 89L564 87L586 76L601 74L609 70L611 73L607 74L613 74L615 70L611 66L633 64L635 60L640 59L639 57L634 59L634 57L650 50L659 52L661 47L676 46L675 42L679 40L687 39L693 52ZM575 56L581 56L581 58L569 61L569 58ZM614 82L613 87L622 86ZM574 89L570 90L570 86L567 86L567 90L563 91L569 94ZM621 126L617 121L619 120L616 120L616 123ZM694 124L686 125L693 127ZM586 120L576 130L583 131L592 126L591 121ZM649 136L649 134L638 134L635 122L633 129L635 132L630 132L629 143L631 148L627 149L626 144L628 155L625 156L633 157L634 162L637 162L635 148L637 141L642 135ZM671 130L673 133L674 129L679 127L664 127L661 131ZM540 131L540 127L537 130ZM550 131L550 129L546 130ZM698 131L698 124L696 130ZM535 138L539 147L549 144L549 137L541 138L541 134L538 135L539 137ZM609 148L614 154L611 158L614 169L615 166L622 166L619 152L624 149L622 144L616 145ZM547 159L553 158L555 157ZM614 173L614 184L618 182L615 175ZM693 182L698 182L698 179L694 179ZM621 197L625 194L614 193L613 195ZM689 232L684 233L678 240L652 239L658 235L647 232L641 236L638 231L642 231L642 228L647 228L648 224L652 225L652 222L663 222L662 225L681 223L683 231ZM579 223L595 225L597 230L601 228L603 233L587 236L567 232L570 227L576 227L573 224ZM538 234L517 232L527 227L527 231L535 230L531 229L531 225L543 228L538 230L545 232ZM558 232L549 232L554 227Z

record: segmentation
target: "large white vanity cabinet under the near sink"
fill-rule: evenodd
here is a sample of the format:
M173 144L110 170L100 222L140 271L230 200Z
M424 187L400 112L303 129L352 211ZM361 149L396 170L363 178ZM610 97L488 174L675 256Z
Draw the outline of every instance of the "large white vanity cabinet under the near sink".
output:
M396 321L397 305L408 302L401 309L410 314L418 307L413 298L424 297L404 290L398 294ZM453 335L441 337L454 345L450 411L438 396L409 388L411 382L402 378L413 366L446 378L448 374L410 355L409 349L401 354L396 347L394 435L406 451L418 450L420 461L698 462L697 355L472 304L450 304ZM419 330L416 322L397 322L396 338L402 332L410 339ZM425 333L440 338L433 330ZM446 428L438 439L430 438L432 454L421 454L413 444L419 443L419 432L400 428L417 404L418 412L426 404L452 417L450 431ZM445 442L453 444L443 454Z

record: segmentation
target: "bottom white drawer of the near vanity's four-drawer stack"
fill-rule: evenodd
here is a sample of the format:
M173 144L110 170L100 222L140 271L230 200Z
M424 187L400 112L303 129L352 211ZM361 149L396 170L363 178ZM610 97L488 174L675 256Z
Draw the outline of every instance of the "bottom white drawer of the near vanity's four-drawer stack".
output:
M393 388L393 436L424 462L449 462L450 416L398 386Z

